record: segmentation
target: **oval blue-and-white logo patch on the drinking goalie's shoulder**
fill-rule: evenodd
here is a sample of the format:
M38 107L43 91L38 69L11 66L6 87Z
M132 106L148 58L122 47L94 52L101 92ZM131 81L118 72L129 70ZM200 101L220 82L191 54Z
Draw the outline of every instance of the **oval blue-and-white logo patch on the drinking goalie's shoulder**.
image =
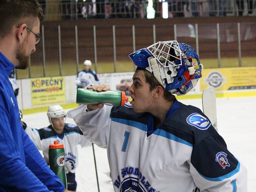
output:
M192 113L187 117L187 123L201 130L206 130L211 126L211 123L199 113Z

